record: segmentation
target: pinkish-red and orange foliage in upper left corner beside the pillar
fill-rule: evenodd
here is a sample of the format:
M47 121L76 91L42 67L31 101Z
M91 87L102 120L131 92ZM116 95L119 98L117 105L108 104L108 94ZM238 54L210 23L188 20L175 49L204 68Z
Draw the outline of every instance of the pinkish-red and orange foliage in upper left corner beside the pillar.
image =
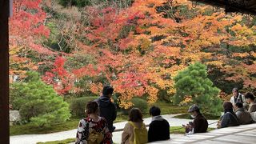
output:
M46 12L39 5L42 0L14 0L10 18L10 74L22 77L26 70L38 70L37 62L29 57L35 54L54 54L42 46L50 30L45 26Z

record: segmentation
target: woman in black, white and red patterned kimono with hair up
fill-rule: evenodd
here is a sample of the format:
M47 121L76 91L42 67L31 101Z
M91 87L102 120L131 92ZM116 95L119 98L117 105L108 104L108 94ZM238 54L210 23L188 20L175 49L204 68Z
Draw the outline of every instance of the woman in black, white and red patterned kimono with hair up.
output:
M87 118L80 120L76 135L76 144L110 144L112 134L107 128L105 118L98 116L98 103L88 102L86 104Z

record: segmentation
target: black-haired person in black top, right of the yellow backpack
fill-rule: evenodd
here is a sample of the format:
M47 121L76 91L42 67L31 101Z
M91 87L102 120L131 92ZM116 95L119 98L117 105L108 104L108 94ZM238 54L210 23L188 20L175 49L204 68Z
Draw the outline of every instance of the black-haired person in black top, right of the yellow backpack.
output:
M161 110L157 106L150 108L152 122L148 131L148 142L162 141L170 139L170 125L166 119L162 118Z

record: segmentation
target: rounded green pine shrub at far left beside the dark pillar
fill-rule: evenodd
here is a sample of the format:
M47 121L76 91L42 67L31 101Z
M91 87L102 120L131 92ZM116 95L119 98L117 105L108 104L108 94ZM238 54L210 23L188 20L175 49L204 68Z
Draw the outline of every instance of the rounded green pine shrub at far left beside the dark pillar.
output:
M24 122L37 126L50 126L70 118L67 102L58 96L52 86L47 86L34 71L26 73L24 82L10 86L10 100L14 110L19 110Z

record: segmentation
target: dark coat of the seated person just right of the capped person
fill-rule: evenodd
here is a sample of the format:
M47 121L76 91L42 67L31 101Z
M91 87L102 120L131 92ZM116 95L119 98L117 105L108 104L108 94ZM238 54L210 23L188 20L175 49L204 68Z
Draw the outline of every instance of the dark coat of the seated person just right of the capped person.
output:
M234 114L233 110L226 111L224 115L221 117L221 127L228 126L239 126L240 122L236 114Z

